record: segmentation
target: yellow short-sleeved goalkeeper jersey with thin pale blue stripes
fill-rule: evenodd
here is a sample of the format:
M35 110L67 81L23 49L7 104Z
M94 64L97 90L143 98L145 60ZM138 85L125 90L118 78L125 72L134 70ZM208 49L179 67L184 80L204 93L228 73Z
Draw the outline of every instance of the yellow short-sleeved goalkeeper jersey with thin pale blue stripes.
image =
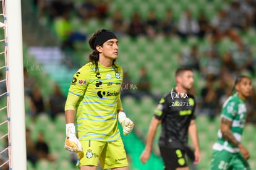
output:
M115 67L116 66L116 67ZM79 140L113 141L120 138L117 110L122 109L120 99L123 79L118 64L105 67L88 62L75 74L69 93L80 96L76 106Z

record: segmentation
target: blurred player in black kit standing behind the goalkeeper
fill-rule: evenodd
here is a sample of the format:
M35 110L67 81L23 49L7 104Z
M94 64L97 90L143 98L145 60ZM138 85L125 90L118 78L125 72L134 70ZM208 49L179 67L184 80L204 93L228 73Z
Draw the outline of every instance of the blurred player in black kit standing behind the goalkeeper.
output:
M185 154L191 155L188 149L188 134L194 146L194 164L200 162L197 126L195 124L195 99L188 91L194 82L191 69L176 70L176 87L163 96L156 107L152 118L145 150L140 156L142 163L150 158L153 140L158 125L162 125L159 147L165 170L189 170Z

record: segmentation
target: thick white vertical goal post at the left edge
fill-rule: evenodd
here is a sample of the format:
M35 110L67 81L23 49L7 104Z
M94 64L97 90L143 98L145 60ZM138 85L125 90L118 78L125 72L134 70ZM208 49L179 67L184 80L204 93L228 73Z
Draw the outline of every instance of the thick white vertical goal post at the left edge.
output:
M11 169L27 169L21 0L6 0Z

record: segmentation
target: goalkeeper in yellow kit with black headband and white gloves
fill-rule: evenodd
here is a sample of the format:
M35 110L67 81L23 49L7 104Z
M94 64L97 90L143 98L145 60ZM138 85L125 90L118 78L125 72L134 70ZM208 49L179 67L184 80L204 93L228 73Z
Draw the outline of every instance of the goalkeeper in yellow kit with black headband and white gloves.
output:
M126 117L120 99L122 67L116 64L118 41L109 30L98 30L89 40L90 61L75 74L65 106L65 149L77 152L79 168L128 169L122 133L128 135L134 124ZM74 122L77 121L77 135Z

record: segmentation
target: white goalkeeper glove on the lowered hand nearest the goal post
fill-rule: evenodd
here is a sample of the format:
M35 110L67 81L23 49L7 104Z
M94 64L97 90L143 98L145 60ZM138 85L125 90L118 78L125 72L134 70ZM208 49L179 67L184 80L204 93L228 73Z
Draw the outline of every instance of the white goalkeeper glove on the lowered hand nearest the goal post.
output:
M67 151L79 152L83 151L82 145L75 136L75 125L66 124L66 140L65 147Z

